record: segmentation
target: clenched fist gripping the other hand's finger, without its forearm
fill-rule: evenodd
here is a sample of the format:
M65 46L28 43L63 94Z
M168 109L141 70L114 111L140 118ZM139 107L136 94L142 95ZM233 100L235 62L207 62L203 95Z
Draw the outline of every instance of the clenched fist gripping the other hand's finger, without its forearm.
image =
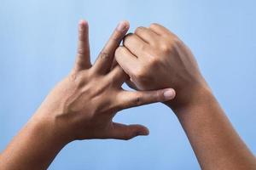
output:
M189 48L171 31L158 24L138 27L124 39L115 59L131 77L131 88L174 88L177 96L167 105L188 105L200 88L207 88Z

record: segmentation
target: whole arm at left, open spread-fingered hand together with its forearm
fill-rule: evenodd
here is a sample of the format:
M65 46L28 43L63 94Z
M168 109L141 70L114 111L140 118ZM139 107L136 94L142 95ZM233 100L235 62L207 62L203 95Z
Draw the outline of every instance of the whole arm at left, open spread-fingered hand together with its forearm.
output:
M148 135L147 127L113 122L113 116L126 108L173 99L175 91L164 88L129 92L121 88L129 77L119 65L113 65L113 55L128 29L129 24L121 22L91 65L88 23L79 23L79 48L73 70L3 151L0 169L46 169L73 140L127 140Z

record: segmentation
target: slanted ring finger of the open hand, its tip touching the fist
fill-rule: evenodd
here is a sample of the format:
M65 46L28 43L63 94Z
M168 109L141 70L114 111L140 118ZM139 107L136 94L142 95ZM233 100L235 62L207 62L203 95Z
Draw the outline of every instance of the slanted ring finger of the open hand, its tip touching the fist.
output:
M96 59L94 68L97 72L104 74L110 70L113 63L114 51L119 47L119 43L122 41L123 37L125 37L128 29L129 23L127 21L122 21L113 31L112 36L109 38L107 44Z

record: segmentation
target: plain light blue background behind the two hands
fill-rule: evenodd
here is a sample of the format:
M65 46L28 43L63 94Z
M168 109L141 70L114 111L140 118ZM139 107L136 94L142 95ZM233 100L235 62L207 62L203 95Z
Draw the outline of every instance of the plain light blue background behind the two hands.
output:
M90 24L92 61L119 20L159 22L192 49L230 121L256 153L256 3L244 1L0 0L0 150L73 66L77 24ZM199 169L182 127L164 105L121 111L148 137L68 144L49 169Z

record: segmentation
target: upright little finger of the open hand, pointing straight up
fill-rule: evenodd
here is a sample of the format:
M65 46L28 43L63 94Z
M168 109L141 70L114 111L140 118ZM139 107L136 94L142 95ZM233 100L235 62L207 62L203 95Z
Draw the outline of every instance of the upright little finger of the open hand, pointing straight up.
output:
M90 44L88 22L79 22L79 45L75 69L77 71L90 68Z

